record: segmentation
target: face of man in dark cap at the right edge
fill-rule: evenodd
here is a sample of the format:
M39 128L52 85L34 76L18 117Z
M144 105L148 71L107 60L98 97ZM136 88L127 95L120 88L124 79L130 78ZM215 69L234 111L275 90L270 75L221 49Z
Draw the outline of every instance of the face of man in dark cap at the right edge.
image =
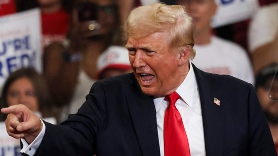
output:
M278 78L268 78L263 86L257 88L257 95L269 122L278 124ZM269 97L271 95L271 98Z

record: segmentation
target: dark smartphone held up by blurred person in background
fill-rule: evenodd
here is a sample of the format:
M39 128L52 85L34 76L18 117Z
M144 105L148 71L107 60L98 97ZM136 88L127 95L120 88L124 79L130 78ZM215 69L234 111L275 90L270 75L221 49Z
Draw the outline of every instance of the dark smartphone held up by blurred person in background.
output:
M78 20L79 21L96 21L97 20L97 5L94 3L82 3L78 5Z

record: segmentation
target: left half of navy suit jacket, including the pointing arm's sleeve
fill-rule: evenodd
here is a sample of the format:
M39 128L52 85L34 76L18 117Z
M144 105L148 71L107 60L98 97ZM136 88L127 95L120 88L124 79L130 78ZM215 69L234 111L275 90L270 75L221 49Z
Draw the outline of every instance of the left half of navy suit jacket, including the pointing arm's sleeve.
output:
M95 82L61 125L45 123L36 155L160 155L152 98L133 74L111 79Z

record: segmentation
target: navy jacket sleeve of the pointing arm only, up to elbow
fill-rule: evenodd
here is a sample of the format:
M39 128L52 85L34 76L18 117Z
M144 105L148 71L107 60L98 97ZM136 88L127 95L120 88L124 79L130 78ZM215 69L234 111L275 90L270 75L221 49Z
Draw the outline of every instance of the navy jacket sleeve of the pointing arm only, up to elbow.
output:
M105 123L106 107L101 85L94 84L76 114L60 125L44 121L45 136L35 155L94 155L97 134ZM95 90L98 93L95 94Z

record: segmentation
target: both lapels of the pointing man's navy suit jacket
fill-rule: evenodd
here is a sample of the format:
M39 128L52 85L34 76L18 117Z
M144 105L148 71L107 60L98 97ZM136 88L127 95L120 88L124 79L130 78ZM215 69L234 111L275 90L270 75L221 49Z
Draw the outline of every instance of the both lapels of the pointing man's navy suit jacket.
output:
M222 155L224 112L221 111L221 105L223 103L217 106L213 102L214 97L218 98L217 92L213 89L215 83L213 79L193 64L192 67L201 100L206 155ZM142 154L160 155L153 100L141 91L135 79L131 86L134 92L127 96L127 100Z

